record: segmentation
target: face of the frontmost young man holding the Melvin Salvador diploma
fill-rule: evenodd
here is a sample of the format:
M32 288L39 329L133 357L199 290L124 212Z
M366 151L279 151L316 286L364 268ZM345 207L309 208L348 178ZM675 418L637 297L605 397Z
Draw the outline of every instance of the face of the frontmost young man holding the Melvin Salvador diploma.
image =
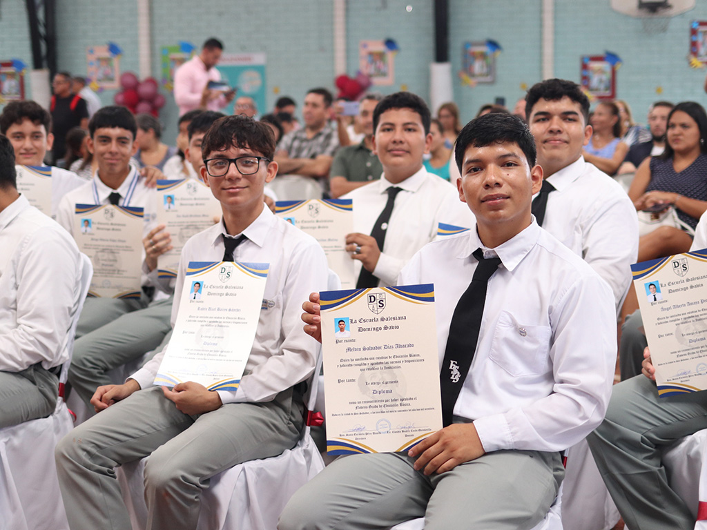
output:
M525 230L530 225L532 195L540 187L542 167L531 168L517 143L469 146L464 153L457 188L462 202L476 216L484 242L484 234L503 234L506 241Z

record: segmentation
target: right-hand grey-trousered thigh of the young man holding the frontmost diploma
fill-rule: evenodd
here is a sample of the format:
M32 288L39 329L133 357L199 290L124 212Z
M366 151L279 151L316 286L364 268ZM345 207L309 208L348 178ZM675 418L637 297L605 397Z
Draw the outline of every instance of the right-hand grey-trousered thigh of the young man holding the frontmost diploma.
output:
M432 478L425 529L530 529L554 501L559 453L497 451Z

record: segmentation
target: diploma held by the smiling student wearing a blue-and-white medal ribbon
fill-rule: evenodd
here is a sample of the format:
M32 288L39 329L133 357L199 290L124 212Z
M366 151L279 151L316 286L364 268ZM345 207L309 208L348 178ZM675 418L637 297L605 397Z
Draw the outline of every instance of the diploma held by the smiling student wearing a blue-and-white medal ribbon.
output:
M90 258L89 296L140 298L143 208L76 204L74 239Z

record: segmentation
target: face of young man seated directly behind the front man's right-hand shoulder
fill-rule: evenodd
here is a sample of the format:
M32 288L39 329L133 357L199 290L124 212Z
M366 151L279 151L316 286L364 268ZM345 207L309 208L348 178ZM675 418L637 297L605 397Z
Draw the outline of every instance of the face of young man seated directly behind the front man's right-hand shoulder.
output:
M535 137L537 163L542 165L546 177L578 160L592 136L582 106L567 96L560 100L538 100L532 107L528 126Z

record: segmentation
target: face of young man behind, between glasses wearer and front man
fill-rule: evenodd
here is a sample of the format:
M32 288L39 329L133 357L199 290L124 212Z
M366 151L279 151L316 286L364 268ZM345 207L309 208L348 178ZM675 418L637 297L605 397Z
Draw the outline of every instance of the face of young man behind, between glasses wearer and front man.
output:
M390 109L378 118L373 149L386 177L401 182L419 171L431 142L432 135L425 134L420 114L411 109Z

